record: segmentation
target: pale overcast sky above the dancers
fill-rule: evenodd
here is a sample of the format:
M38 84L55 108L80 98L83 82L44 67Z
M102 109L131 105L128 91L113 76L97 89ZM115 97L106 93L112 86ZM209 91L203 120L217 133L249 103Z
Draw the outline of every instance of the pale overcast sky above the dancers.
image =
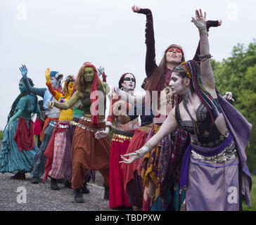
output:
M88 61L105 68L110 86L117 86L124 72L132 72L140 94L146 77L146 15L133 13L134 5L153 13L157 63L169 44L182 46L186 60L193 58L199 39L191 23L196 8L207 13L207 20L223 21L209 32L215 60L228 58L233 46L248 46L256 38L252 0L1 0L0 129L19 94L21 65L27 66L35 86L46 87L46 68L77 76Z

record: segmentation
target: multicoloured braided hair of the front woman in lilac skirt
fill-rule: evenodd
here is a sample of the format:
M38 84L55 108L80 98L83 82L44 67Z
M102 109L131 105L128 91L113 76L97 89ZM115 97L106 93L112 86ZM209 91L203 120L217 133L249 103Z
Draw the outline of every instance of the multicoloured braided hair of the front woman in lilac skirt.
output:
M218 110L218 103L215 101L215 99L211 96L211 94L204 88L201 81L201 75L200 75L200 65L196 63L194 60L188 60L187 62L181 63L177 67L174 68L174 72L179 72L181 76L188 77L191 80L193 91L196 92L198 97L200 98L200 101L205 105L208 112L210 113L210 117L212 120L211 123L211 129L212 126L215 124L214 116L219 116L219 110ZM186 109L188 115L191 117L191 114L188 111L188 107L186 105L186 101L184 102L184 108ZM191 117L191 120L195 123L195 129L196 133L199 134L198 125L195 120Z

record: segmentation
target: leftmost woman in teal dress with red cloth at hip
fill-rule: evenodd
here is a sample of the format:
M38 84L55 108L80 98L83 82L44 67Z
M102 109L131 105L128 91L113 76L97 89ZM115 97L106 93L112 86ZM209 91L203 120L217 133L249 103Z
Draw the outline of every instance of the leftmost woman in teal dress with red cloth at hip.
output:
M32 79L27 80L34 86ZM0 151L0 172L15 174L13 179L25 179L25 173L31 172L34 155L39 150L34 144L32 121L34 114L41 118L37 96L26 90L23 78L20 79L19 89L20 94L8 114Z

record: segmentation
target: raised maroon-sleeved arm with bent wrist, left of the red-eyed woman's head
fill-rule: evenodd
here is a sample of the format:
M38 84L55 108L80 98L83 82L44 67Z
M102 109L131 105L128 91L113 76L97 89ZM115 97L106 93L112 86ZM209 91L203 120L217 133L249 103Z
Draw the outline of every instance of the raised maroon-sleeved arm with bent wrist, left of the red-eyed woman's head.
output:
M134 13L141 13L146 15L146 63L145 70L147 77L150 77L158 67L155 63L155 37L154 37L154 27L153 27L153 15L150 9L148 8L138 8L137 6L132 6L132 11Z

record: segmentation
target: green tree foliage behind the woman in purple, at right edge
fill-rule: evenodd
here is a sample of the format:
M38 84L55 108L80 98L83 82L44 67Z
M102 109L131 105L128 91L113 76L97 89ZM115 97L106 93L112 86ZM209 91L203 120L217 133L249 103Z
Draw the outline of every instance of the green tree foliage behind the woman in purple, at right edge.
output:
M233 47L231 57L222 62L211 62L217 89L222 94L231 91L235 99L233 106L252 124L246 154L250 171L256 173L256 40L247 48L237 44Z

